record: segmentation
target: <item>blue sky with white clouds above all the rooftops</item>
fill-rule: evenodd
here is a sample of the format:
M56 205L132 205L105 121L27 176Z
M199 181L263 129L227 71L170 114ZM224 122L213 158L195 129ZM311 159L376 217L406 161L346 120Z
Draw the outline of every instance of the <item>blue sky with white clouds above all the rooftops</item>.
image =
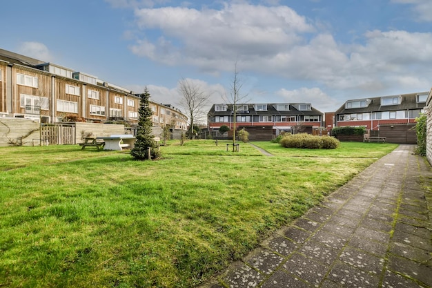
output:
M3 2L0 48L174 106L179 79L224 103L235 64L249 103L322 112L432 86L431 0Z

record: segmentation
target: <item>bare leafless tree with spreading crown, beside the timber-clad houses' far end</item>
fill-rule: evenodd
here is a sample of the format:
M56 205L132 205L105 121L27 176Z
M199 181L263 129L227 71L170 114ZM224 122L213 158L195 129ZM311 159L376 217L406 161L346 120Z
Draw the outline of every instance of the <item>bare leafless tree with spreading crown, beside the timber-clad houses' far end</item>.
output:
M193 124L199 120L204 113L210 94L190 79L181 79L178 84L181 99L179 105L186 110L190 121L190 134L193 134Z

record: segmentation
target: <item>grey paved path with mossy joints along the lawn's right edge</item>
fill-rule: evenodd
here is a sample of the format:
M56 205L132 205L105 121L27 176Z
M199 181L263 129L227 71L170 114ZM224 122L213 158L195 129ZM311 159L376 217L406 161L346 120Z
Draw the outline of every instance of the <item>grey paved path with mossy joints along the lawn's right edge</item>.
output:
M432 287L432 171L413 149L400 145L201 287Z

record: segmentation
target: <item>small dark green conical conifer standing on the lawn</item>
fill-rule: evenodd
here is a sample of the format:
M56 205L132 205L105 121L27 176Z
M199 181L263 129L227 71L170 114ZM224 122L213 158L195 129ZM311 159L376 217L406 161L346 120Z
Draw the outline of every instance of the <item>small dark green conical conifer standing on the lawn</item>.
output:
M150 99L150 93L148 93L147 87L144 93L139 95L139 98L137 141L135 142L134 148L130 151L130 155L132 155L135 160L156 159L160 156L160 152L155 140L153 140L153 124L151 120L153 112L148 101L148 99ZM148 154L149 149L150 155Z

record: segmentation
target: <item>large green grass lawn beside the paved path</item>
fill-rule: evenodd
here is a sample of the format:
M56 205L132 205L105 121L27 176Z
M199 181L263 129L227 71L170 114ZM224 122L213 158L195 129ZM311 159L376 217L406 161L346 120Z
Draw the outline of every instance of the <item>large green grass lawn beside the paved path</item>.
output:
M193 287L395 144L0 148L0 287Z

